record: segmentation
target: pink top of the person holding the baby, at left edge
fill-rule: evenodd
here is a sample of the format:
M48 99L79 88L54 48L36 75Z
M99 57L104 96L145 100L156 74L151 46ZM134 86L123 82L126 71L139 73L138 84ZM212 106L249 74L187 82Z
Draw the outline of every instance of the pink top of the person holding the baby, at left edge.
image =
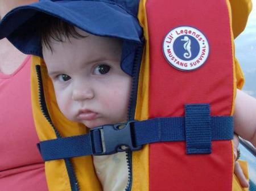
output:
M32 118L31 56L11 75L0 72L0 190L46 191Z

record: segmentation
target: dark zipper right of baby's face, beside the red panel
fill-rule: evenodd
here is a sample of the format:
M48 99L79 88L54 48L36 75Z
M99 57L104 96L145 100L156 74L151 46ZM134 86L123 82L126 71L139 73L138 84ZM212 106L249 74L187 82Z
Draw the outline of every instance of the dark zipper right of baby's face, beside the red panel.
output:
M135 108L137 102L137 92L138 92L138 82L139 82L139 70L141 69L141 59L143 53L143 40L142 45L138 45L135 52L134 65L132 71L132 84L131 84L131 96L128 106L127 121L134 120ZM125 191L131 190L131 185L133 183L133 172L132 172L132 152L130 150L126 151L126 161L128 168L128 182Z

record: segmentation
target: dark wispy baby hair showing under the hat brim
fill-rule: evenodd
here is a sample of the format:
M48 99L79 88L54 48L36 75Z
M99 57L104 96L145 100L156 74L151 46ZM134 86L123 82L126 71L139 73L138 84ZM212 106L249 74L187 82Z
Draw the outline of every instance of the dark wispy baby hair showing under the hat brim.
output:
M51 51L53 51L51 47L52 40L65 42L70 41L71 37L76 39L86 37L77 32L74 26L59 18L47 14L38 14L37 16L39 18L39 37L42 47Z

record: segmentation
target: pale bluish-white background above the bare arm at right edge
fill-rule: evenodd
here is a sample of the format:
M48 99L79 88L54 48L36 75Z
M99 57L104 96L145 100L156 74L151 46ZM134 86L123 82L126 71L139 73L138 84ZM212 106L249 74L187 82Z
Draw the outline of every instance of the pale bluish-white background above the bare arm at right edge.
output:
M256 0L245 31L235 40L236 57L245 74L243 91L256 97Z

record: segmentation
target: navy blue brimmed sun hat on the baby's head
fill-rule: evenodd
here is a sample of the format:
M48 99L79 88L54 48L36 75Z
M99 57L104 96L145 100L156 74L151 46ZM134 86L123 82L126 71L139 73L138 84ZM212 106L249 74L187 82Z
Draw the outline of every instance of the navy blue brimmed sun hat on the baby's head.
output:
M43 57L36 31L40 25L36 17L43 12L93 35L122 39L121 67L131 75L130 61L143 35L137 19L138 6L139 0L41 0L8 12L0 22L0 39L7 37L24 54Z

